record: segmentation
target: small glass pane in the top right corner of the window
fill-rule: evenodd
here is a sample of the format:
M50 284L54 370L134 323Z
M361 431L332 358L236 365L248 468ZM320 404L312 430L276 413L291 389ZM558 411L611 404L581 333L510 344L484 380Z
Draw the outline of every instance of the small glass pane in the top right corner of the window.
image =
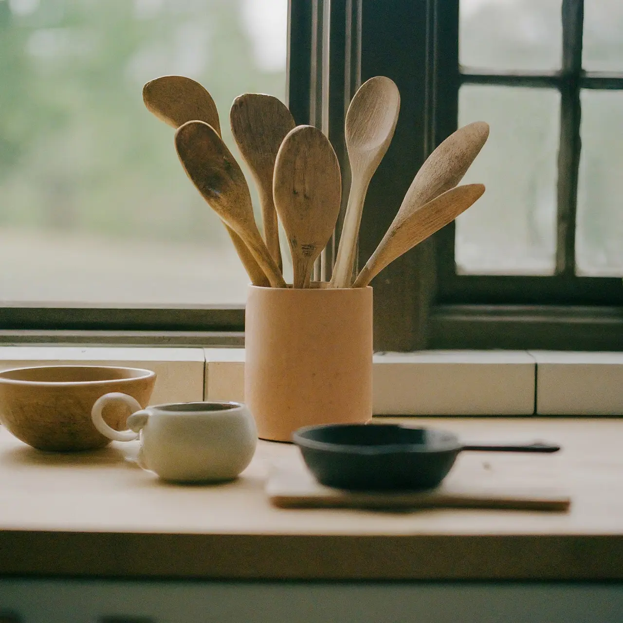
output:
M622 32L621 0L584 0L584 69L623 72Z

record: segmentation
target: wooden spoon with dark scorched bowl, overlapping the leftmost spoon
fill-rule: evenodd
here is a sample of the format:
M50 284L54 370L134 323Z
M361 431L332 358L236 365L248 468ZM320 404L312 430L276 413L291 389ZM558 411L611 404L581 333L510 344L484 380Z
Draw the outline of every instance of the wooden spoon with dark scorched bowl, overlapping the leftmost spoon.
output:
M212 209L244 240L272 287L285 287L281 271L255 224L249 186L234 156L211 125L187 121L175 133L184 171Z

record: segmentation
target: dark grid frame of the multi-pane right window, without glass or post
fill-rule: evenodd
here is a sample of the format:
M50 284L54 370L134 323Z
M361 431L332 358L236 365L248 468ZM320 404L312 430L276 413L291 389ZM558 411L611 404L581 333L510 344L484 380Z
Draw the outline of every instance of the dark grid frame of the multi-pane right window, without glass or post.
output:
M556 88L561 94L557 196L558 244L553 276L457 275L454 223L437 235L435 346L620 350L623 287L620 278L575 275L575 230L583 88L622 89L623 73L582 68L583 0L563 0L561 69L485 72L459 64L459 0L437 0L439 139L457 126L463 84ZM443 8L442 8L443 6Z

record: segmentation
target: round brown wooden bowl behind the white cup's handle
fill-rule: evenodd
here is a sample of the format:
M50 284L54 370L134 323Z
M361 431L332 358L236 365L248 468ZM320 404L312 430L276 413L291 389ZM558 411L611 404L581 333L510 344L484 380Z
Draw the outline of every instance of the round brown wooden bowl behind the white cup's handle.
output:
M37 366L0 372L0 424L40 450L100 448L110 442L91 421L93 403L108 392L123 392L145 408L156 373L112 366ZM126 408L111 404L103 417L113 429L126 428Z

